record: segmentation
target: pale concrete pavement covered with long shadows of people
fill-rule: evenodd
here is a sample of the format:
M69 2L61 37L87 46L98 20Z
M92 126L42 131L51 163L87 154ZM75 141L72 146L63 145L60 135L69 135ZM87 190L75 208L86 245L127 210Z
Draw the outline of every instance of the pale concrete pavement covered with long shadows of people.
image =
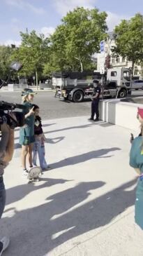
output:
M52 170L35 184L22 177L15 133L4 175L0 233L11 243L3 256L143 255L143 232L134 222L137 176L128 165L132 131L87 118L44 122Z

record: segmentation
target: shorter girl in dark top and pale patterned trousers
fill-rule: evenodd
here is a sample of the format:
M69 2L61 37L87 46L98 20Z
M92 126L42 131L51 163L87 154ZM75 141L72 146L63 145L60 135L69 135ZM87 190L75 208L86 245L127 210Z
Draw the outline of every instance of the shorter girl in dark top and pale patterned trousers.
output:
M33 144L33 165L37 166L37 154L40 162L40 168L42 170L50 170L50 166L47 166L45 161L45 135L43 133L41 118L39 116L39 107L33 105L33 111L35 113L34 123L34 135L35 142Z

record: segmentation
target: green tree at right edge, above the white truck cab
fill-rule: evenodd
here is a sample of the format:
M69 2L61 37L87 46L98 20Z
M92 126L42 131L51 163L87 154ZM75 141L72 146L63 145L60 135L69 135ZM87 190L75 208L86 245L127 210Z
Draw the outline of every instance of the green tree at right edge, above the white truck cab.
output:
M130 20L122 20L114 29L116 46L113 53L132 61L132 75L134 65L143 59L143 15L137 13Z

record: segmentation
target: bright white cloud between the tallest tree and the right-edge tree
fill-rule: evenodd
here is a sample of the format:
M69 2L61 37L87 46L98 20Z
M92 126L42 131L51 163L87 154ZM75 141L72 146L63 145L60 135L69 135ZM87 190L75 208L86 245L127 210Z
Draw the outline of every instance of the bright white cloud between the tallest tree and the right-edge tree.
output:
M116 25L119 25L119 23L121 22L121 20L128 20L128 16L127 15L119 15L116 13L111 13L110 11L107 11L107 27L109 29L109 31L112 31L114 29L114 27Z

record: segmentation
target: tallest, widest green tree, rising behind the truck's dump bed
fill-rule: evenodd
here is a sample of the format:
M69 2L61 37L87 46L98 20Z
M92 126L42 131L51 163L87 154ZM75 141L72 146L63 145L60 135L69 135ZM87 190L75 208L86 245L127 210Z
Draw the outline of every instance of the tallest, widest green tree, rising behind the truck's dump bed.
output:
M99 51L106 35L106 18L107 14L97 8L81 7L67 13L50 37L52 69L83 71L92 66L91 55Z

